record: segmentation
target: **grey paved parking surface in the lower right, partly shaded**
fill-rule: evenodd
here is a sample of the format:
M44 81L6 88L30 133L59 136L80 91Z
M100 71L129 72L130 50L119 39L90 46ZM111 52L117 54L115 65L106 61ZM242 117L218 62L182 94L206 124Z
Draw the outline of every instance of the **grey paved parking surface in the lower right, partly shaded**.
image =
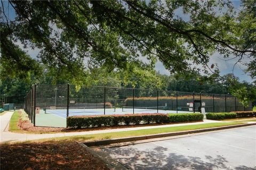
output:
M256 169L256 126L104 148L129 169Z

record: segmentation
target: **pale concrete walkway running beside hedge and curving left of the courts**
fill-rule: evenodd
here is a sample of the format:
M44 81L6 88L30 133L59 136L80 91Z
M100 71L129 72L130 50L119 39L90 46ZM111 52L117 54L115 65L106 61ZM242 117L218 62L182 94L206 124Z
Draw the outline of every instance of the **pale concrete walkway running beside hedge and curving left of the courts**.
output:
M212 121L212 120L204 120L203 122L195 122L195 123L143 126L143 127L137 127L137 128L122 128L122 129L111 129L111 130L108 129L108 130L98 130L98 131L89 131L89 132L87 131L87 132L62 132L62 133L49 133L49 134L26 134L26 133L13 133L13 132L7 131L8 127L9 127L9 121L10 121L12 114L13 114L13 112L7 112L4 115L0 116L0 120L1 120L0 142L26 141L26 140L36 140L36 139L44 139L44 138L69 137L69 136L74 136L74 135L132 131L132 130L141 130L141 129L154 129L154 128L181 126L181 125L193 125L193 124L205 124L205 123L219 122L219 121Z

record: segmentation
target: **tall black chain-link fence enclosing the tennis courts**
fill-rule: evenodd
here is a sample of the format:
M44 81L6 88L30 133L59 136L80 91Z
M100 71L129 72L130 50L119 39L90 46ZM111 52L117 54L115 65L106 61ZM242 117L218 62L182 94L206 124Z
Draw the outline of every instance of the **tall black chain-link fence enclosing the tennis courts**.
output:
M35 85L25 97L35 126L66 127L68 116L252 111L231 95L74 85Z

